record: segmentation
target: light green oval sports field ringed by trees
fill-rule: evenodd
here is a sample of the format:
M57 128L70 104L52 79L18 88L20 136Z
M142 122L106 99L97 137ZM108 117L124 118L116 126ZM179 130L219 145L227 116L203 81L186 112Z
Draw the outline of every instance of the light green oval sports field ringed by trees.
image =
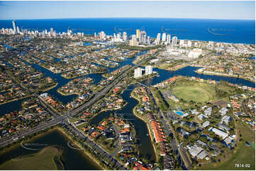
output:
M199 86L177 86L172 89L172 93L177 98L183 98L187 102L191 100L194 102L208 102L211 99L211 94Z

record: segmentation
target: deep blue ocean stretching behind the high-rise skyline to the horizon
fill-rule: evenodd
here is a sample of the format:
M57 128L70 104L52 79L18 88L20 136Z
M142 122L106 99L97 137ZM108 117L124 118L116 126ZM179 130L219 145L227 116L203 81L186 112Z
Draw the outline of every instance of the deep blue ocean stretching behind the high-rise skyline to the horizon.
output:
M217 20L189 18L70 18L16 20L21 29L50 30L57 33L83 32L93 35L104 30L106 35L113 33L135 34L136 29L145 30L150 37L157 33L167 33L183 40L204 40L255 44L255 20ZM0 20L0 28L12 28L11 20Z

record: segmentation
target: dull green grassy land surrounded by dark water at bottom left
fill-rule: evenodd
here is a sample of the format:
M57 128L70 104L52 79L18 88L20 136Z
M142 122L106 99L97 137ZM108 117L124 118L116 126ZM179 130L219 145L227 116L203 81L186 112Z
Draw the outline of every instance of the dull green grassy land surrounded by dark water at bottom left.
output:
M54 160L57 153L57 148L48 146L35 155L6 161L0 165L0 170L57 170Z

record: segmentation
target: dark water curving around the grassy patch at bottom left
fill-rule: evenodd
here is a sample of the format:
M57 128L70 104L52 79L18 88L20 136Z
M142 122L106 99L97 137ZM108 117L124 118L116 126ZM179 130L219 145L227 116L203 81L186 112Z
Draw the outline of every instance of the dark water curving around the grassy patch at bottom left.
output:
M70 148L67 143L70 141L67 136L62 134L60 131L50 131L48 134L35 138L33 141L23 143L26 148L41 149L46 146L60 146L64 148L62 153L62 163L64 164L65 170L101 170L99 165L96 165L87 155L82 151ZM23 155L30 155L37 153L39 150L28 150L22 146L13 148L11 151L2 153L0 155L0 165L6 160L11 160ZM22 170L22 168L16 168Z

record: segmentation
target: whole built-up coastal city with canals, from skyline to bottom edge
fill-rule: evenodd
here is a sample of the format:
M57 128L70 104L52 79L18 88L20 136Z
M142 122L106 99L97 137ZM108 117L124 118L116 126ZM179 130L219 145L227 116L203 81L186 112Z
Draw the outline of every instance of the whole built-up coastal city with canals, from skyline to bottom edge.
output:
M0 33L1 170L255 170L255 45Z

